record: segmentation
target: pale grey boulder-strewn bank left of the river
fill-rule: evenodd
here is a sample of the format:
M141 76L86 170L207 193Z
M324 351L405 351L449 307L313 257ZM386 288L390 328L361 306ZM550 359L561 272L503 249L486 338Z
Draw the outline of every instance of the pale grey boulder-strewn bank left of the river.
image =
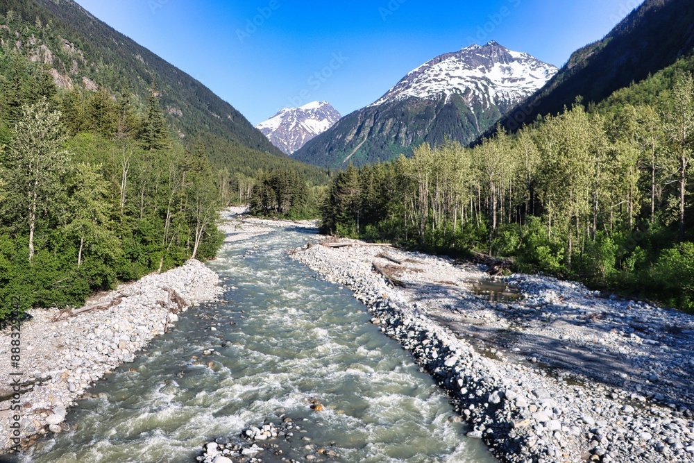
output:
M10 330L0 332L0 446L33 444L47 432L67 430L69 407L106 373L133 362L137 351L178 320L191 305L221 293L219 277L197 260L95 296L78 310L31 310L22 323L19 369L10 364ZM12 434L12 373L21 376L19 436ZM15 397L16 398L16 397Z

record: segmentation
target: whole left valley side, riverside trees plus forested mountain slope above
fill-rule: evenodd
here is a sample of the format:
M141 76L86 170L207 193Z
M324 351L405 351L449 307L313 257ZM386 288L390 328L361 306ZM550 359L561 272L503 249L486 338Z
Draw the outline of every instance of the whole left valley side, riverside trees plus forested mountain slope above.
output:
M0 5L0 147L0 321L12 295L23 309L80 305L213 258L219 209L268 171L309 192L328 181L69 0Z

